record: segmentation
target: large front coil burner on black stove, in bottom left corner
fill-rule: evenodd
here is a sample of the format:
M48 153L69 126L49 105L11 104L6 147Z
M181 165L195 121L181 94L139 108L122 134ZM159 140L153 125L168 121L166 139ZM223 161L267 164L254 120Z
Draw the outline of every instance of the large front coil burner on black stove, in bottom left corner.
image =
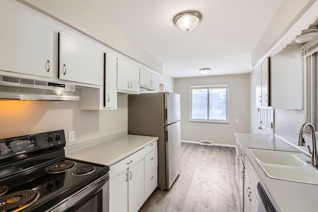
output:
M33 190L18 191L0 197L0 209L3 212L21 211L39 199L40 193Z

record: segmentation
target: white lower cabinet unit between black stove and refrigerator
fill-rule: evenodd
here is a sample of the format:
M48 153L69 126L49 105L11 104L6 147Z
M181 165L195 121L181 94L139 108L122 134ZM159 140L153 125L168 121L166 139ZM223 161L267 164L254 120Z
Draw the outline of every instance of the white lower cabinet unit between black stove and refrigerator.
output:
M138 212L158 185L154 141L109 167L109 212Z

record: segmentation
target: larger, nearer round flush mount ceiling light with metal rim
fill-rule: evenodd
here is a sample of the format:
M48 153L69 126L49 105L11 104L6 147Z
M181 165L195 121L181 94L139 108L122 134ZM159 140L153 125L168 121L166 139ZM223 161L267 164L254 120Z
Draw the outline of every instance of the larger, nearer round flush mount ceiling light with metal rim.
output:
M195 10L186 10L176 14L173 23L182 31L189 32L198 26L202 20L200 12Z

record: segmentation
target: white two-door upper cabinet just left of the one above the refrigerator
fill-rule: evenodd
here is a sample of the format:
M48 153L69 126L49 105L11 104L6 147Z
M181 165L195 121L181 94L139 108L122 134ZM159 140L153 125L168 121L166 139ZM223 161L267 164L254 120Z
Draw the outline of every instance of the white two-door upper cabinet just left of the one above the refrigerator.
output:
M139 67L123 58L117 61L117 91L139 93Z

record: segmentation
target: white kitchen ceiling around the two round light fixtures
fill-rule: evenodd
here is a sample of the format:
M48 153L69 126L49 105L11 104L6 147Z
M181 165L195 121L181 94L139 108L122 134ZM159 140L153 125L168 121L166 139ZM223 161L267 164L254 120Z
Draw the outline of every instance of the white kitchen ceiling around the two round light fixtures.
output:
M247 73L250 52L283 0L82 0L163 63L172 77ZM198 10L203 19L190 32L172 22Z

